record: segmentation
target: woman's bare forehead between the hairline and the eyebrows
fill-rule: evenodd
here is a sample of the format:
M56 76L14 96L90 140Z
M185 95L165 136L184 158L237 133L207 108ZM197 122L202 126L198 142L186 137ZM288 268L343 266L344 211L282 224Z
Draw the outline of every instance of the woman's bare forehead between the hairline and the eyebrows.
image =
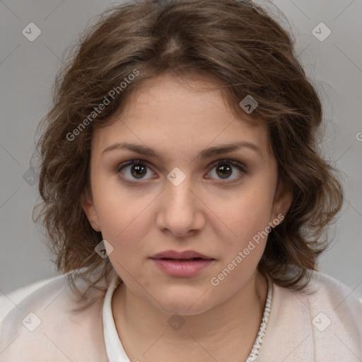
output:
M267 152L267 127L229 109L219 85L207 78L158 76L141 83L106 127L95 129L93 149L133 141L160 151L245 141ZM102 149L100 149L102 148Z

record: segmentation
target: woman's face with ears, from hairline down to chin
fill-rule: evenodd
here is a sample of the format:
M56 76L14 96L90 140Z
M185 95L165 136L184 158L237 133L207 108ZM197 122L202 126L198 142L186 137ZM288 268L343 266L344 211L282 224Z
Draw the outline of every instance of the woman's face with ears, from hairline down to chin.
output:
M202 89L205 80L189 84L147 81L115 122L94 130L92 197L83 202L129 291L183 315L255 278L265 230L291 201L277 187L267 127L235 118L217 91ZM156 256L170 250L205 259Z

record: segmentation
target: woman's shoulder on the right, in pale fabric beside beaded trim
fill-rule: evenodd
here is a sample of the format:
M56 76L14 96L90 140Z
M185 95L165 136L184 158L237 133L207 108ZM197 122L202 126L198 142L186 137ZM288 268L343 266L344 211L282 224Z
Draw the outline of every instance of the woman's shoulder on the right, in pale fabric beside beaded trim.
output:
M362 303L351 288L319 271L303 291L274 284L264 342L269 362L361 361Z

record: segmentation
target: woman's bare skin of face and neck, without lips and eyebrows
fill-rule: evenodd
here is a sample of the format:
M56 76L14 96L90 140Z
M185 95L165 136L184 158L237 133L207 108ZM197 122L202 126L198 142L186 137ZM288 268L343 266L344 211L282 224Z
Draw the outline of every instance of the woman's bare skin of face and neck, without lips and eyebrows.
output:
M210 84L166 75L148 80L112 124L93 134L92 194L83 209L112 245L110 261L124 281L112 311L131 361L243 361L261 322L267 281L257 264L266 238L218 286L210 281L286 214L291 192L277 182L267 126L236 118ZM204 148L235 141L259 151L242 147L197 158ZM120 142L148 146L164 159L120 148L103 152ZM232 168L223 178L214 164L225 158L244 171L223 162ZM140 159L148 166L143 178L132 165L122 168ZM186 176L178 186L167 178L175 167ZM196 250L215 260L196 276L169 276L149 259L165 250ZM173 315L185 322L178 330L168 323Z

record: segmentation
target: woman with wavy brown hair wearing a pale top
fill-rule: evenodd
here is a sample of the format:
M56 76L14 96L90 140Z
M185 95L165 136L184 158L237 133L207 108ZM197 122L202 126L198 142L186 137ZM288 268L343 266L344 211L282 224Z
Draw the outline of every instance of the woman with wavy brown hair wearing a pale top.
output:
M317 271L343 200L320 100L261 7L117 6L56 86L38 216L64 275L0 358L361 360L362 305Z

